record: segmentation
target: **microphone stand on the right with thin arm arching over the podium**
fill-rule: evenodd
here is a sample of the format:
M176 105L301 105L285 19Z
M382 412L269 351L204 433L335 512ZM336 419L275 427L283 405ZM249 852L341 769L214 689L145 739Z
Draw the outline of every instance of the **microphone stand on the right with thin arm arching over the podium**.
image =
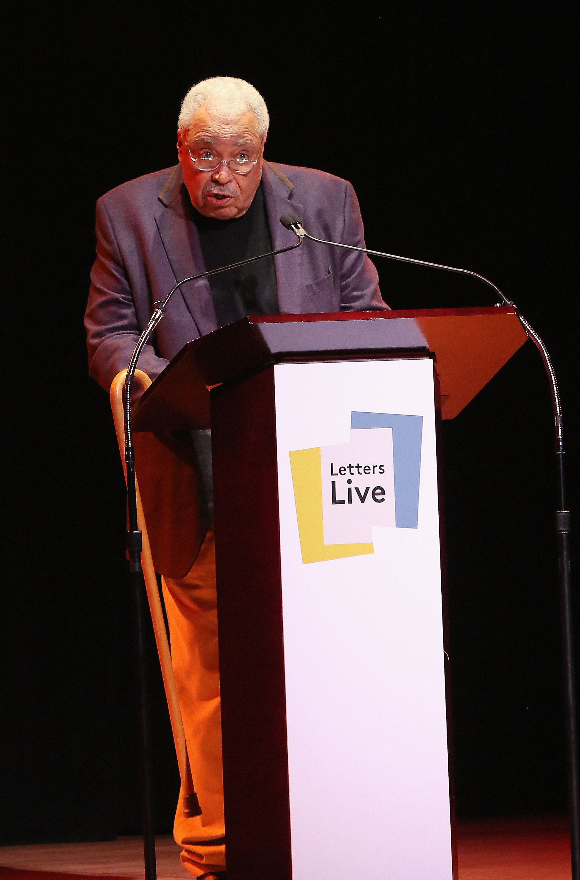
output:
M311 241L317 242L319 245L332 245L334 247L344 247L349 251L360 251L361 253L370 253L372 256L385 257L387 260L399 260L403 263L413 263L415 266L425 266L427 268L444 269L446 272L455 272L459 275L471 275L478 281L484 282L488 287L495 290L501 299L501 303L496 305L512 306L520 324L524 327L528 338L538 348L547 377L550 382L550 392L552 393L552 406L554 408L554 429L555 429L555 455L557 462L557 510L555 511L555 531L557 534L557 554L558 554L558 577L560 582L560 620L562 634L562 666L564 678L564 722L566 728L566 764L568 770L568 803L569 803L569 824L570 824L570 852L572 862L572 880L580 880L580 783L578 781L578 733L577 733L577 714L576 714L576 686L574 676L574 637L573 637L573 618L572 618L572 581L571 581L571 560L570 560L570 511L566 508L566 487L564 480L564 429L562 422L562 402L560 400L560 390L558 388L558 380L554 371L552 359L548 353L545 343L540 339L540 335L536 333L532 325L519 312L518 307L508 297L505 297L502 291L496 287L496 284L490 282L488 278L472 272L470 269L457 268L455 266L444 266L441 263L431 263L427 260L414 260L411 257L400 257L394 253L383 253L382 251L371 251L370 248L357 247L355 245L343 245L337 241L326 241L323 238L315 238L305 231L304 226L300 223L297 216L285 215L280 218L280 223L291 229L302 241L303 238L310 238Z

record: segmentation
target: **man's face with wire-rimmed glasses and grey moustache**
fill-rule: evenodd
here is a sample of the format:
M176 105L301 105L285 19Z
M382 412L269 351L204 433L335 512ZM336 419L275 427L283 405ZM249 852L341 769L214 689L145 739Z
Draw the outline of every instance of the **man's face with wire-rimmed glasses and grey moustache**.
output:
M186 143L187 141L187 143ZM183 180L195 209L207 217L230 220L246 214L260 186L266 137L258 133L255 117L246 111L237 122L218 119L205 107L195 113L187 131L177 132L177 151ZM189 147L189 150L187 149ZM191 156L199 158L208 150L220 159L234 159L240 153L258 158L247 174L234 174L228 165L216 171L198 171Z

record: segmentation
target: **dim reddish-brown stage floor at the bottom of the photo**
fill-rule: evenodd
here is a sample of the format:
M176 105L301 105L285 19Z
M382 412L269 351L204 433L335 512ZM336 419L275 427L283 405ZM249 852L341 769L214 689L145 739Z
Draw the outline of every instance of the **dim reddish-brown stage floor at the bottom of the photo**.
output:
M487 819L459 823L459 880L570 880L568 819ZM187 880L171 837L157 840L158 880ZM0 847L0 880L143 878L143 841ZM429 880L429 878L425 878Z

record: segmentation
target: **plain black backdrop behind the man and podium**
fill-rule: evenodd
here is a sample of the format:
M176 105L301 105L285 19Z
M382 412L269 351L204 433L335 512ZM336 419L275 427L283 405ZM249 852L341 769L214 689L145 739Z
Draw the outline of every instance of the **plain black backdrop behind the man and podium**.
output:
M94 203L175 163L180 100L199 79L252 82L266 158L351 180L369 246L473 268L513 297L560 378L573 506L573 23L554 5L405 9L353 7L334 24L290 7L51 11L9 29L4 843L140 828L125 491L82 319ZM475 282L377 265L393 308L494 301ZM553 459L527 342L444 423L459 817L566 810ZM179 776L150 642L167 832Z

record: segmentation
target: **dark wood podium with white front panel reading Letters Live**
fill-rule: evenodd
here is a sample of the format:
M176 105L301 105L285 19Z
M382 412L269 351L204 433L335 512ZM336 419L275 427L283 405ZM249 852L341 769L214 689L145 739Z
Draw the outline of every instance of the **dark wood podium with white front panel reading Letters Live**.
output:
M228 880L457 877L437 425L526 338L508 307L251 316L136 405L211 428Z

